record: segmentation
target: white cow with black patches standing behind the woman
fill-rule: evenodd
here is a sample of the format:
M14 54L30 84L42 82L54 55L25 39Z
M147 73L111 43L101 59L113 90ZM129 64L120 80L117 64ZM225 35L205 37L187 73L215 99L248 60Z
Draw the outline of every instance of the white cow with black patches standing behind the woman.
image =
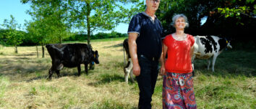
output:
M192 63L194 63L196 59L206 59L208 60L208 70L210 67L210 57L213 57L212 61L212 71L214 72L214 65L216 62L216 58L218 57L223 49L226 47L232 48L230 42L225 38L220 38L216 36L195 36L195 44L194 44L194 54L192 57ZM192 64L194 69L194 64Z

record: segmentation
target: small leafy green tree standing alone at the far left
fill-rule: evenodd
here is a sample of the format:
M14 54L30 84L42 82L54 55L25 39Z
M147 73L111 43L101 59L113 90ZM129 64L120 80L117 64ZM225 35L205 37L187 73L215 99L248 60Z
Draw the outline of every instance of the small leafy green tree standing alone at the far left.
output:
M8 29L8 31L5 33L7 36L7 44L14 45L15 47L15 53L18 52L17 46L22 43L23 34L22 32L18 32L16 29L20 29L20 25L15 20L14 16L11 15L11 19L7 20L4 19L4 24L2 24L3 27Z

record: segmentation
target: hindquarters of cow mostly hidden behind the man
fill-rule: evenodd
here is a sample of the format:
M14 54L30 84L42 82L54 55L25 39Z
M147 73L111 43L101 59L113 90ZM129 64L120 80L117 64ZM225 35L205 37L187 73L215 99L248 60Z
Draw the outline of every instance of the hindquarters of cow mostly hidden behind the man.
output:
M124 39L123 42L123 47L124 47L124 80L125 82L128 83L128 77L130 75L132 82L135 82L133 79L133 72L132 72L132 59L131 56L129 55L129 44L128 44L128 39Z

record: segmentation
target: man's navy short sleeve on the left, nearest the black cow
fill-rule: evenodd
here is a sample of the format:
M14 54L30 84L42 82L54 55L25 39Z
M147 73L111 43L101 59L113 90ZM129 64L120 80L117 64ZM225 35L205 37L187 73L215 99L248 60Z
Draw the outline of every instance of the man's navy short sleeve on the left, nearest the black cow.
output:
M131 22L129 22L129 27L128 27L128 34L131 32L135 32L137 34L140 34L140 29L141 29L141 22L140 22L140 16L135 15L132 17Z

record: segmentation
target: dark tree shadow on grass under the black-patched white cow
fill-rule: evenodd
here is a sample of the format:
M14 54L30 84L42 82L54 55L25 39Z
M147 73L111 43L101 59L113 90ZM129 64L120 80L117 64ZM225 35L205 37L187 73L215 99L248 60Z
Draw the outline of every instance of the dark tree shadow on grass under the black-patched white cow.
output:
M195 60L195 71L202 72L204 75L214 76L245 76L255 77L256 76L256 51L245 52L245 51L224 51L220 54L214 66L215 72L212 72L211 65L210 69L207 69L207 60ZM212 58L210 58L212 61Z

